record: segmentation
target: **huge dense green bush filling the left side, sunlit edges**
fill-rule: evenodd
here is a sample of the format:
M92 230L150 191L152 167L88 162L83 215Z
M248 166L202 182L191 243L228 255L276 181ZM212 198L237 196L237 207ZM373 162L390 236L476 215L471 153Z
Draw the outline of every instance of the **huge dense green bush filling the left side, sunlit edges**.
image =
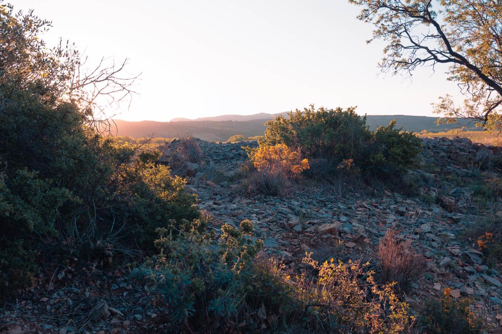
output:
M103 240L148 250L169 219L200 216L158 153L91 127L79 54L47 49L38 35L48 24L0 3L0 290L58 258L58 245L62 257Z

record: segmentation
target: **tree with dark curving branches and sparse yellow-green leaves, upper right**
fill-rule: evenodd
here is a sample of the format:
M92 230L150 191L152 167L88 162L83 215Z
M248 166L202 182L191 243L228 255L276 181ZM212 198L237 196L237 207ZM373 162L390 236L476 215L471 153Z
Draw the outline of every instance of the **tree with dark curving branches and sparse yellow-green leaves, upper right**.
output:
M357 17L375 26L374 39L387 42L383 70L409 75L420 66L449 65L448 80L465 95L435 105L443 121L476 121L502 129L502 3L496 0L349 0L362 7Z

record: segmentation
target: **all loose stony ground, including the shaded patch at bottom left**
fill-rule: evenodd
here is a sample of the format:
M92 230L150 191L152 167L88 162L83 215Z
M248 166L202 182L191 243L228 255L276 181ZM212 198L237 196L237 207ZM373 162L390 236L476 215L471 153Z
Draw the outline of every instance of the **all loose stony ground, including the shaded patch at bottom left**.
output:
M224 223L254 222L265 254L279 256L292 270L306 270L305 252L313 258L374 260L379 239L391 227L402 230L427 260L424 277L406 295L412 307L451 288L455 299L470 296L476 312L499 323L502 276L482 264L476 240L465 231L489 213L502 216L502 203L482 206L469 180L496 180L500 150L468 139L424 139L421 169L410 175L413 191L354 189L332 185L297 185L284 197L245 196L239 191L243 143L199 141L203 160L183 168L187 190L214 217L216 232ZM251 143L256 145L256 143ZM474 164L474 167L473 167ZM466 183L467 182L467 183ZM103 271L89 265L48 269L37 287L11 300L0 315L0 332L144 332L162 323L141 287L127 270ZM502 310L500 310L502 313Z

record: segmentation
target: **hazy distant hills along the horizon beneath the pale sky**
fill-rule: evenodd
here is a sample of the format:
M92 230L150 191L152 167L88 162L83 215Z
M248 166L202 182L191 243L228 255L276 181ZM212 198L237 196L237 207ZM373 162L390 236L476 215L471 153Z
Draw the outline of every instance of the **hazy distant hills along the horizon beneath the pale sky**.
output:
M281 113L285 114L285 113ZM256 115L268 115L266 118L253 119ZM179 137L187 133L191 133L194 137L204 139L207 141L226 141L228 137L233 135L243 135L246 137L261 136L265 132L264 123L279 114L256 114L256 115L224 115L217 116L216 118L223 118L223 120L214 120L214 117L208 117L206 120L197 119L171 122L155 122L155 121L141 121L129 122L122 120L114 120L116 124L117 136L131 136L131 137L146 137L154 135L155 137ZM227 117L250 117L248 120L225 120ZM237 117L238 118L238 117ZM430 132L448 131L453 128L458 128L461 125L448 124L436 125L437 117L426 116L406 116L406 115L368 115L367 125L370 129L374 130L378 126L388 125L389 122L395 118L398 122L398 127L403 127L404 130L420 132L427 130ZM475 128L471 125L469 130Z

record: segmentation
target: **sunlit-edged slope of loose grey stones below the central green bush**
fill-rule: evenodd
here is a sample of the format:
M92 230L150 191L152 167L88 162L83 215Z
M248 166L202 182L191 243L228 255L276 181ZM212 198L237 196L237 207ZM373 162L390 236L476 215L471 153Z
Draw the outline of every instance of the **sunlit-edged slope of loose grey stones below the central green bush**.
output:
M245 160L241 146L201 142L205 159L188 178L189 191L198 194L200 208L215 222L238 225L242 219L252 220L265 242L264 251L300 271L305 270L301 263L305 252L313 252L317 260L334 256L371 261L379 239L389 228L399 228L402 238L411 240L427 260L424 279L414 283L406 296L412 307L420 308L425 299L440 296L449 287L453 298L472 297L476 312L502 323L498 315L502 276L482 264L476 240L465 235L487 211L502 216L502 203L480 208L471 189L458 186L458 179L468 184L473 173L483 180L500 176L492 167L499 148L472 144L466 138L424 139L423 168L411 175L416 195L370 189L345 189L339 194L338 188L325 184L298 186L279 198L239 194L232 176L239 174ZM473 171L473 163L480 168Z

